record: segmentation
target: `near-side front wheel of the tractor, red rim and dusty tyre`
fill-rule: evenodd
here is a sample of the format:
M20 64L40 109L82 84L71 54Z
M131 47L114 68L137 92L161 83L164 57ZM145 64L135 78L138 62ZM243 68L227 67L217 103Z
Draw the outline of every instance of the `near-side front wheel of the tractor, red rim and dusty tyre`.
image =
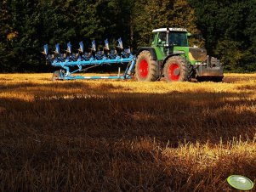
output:
M170 57L163 67L163 76L167 82L191 81L193 74L192 65L180 56Z

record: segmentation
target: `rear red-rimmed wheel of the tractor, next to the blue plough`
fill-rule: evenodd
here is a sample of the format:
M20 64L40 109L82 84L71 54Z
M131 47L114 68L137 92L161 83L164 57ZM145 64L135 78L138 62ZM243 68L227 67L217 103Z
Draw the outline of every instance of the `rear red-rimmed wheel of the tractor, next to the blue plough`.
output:
M157 80L157 63L149 51L139 53L135 65L135 77L139 82L155 82Z

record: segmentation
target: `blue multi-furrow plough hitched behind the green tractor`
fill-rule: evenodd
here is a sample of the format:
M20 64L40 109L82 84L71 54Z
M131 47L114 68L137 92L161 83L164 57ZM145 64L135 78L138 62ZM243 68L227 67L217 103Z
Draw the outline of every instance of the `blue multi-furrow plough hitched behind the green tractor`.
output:
M131 54L130 48L123 48L122 39L117 40L118 45L115 49L110 49L109 42L105 39L105 47L102 51L96 49L96 42L92 42L89 52L84 51L83 42L79 42L77 54L71 51L71 42L67 43L65 54L60 53L60 45L55 45L54 54L48 54L48 45L44 45L43 54L47 61L56 67L60 67L60 71L54 71L53 80L73 80L73 79L130 79L134 74L134 65L136 57ZM126 64L127 68L122 75L120 69L117 76L73 76L78 71L87 71L100 65ZM71 68L77 67L71 71Z

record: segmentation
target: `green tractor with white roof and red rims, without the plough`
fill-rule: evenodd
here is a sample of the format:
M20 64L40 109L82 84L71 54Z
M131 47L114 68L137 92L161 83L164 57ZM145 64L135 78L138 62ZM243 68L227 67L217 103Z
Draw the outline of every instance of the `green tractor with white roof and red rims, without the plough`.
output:
M223 66L219 59L207 55L204 48L189 47L191 34L183 28L153 30L151 47L139 48L135 77L141 82L154 82L164 77L167 82L222 82ZM167 41L168 40L168 41Z

